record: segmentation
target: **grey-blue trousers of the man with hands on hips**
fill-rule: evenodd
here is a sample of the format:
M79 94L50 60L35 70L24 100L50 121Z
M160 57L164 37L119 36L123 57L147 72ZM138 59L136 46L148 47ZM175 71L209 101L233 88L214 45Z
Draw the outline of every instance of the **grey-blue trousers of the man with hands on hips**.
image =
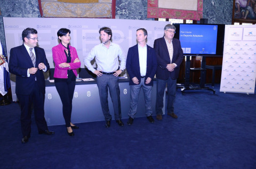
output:
M108 90L114 107L115 120L121 120L121 103L120 103L120 89L118 85L118 77L113 74L102 74L97 77L97 86L100 94L100 104L105 120L112 119L108 107Z

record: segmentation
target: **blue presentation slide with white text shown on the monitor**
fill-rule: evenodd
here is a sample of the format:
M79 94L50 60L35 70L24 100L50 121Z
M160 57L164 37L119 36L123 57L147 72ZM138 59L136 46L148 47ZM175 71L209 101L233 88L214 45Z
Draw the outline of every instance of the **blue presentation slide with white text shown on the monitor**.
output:
M185 54L216 54L217 25L180 25L180 43Z

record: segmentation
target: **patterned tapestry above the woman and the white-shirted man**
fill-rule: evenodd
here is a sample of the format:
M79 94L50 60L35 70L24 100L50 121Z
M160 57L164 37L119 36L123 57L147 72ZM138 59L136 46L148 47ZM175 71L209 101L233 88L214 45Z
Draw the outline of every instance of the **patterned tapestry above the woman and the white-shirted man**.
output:
M115 0L38 0L42 17L115 18Z

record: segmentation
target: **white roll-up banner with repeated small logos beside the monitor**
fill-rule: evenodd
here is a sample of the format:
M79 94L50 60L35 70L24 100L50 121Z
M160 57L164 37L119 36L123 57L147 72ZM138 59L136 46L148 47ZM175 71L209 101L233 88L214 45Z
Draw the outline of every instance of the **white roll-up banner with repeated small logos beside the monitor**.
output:
M256 27L225 26L220 92L254 94Z

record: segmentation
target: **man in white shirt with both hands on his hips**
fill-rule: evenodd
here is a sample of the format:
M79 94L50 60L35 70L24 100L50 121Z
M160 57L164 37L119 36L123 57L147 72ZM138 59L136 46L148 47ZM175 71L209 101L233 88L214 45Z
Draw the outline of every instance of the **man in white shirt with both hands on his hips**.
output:
M118 75L125 69L126 57L119 45L111 43L112 31L110 28L100 28L99 33L102 43L92 48L91 52L84 58L84 64L91 72L97 75L97 86L102 112L106 120L106 128L110 127L112 119L108 107L108 89L113 102L115 120L118 125L123 126ZM97 70L91 64L94 57L98 66ZM120 66L118 57L121 61Z

